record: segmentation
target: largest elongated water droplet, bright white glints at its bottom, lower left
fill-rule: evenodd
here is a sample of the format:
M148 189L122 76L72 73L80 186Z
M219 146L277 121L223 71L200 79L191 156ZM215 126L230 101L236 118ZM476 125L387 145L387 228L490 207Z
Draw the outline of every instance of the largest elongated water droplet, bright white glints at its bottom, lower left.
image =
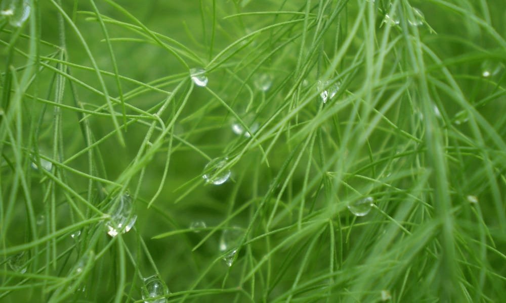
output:
M134 204L128 192L118 196L109 211L111 219L107 221L107 234L115 237L119 233L126 233L132 229L137 220L134 214Z

